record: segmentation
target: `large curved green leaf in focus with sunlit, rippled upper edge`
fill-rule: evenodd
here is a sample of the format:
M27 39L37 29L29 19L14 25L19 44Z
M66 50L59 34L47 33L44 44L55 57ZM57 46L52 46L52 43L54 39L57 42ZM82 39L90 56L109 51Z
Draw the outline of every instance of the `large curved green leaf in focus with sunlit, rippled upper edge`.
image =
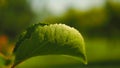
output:
M35 24L21 34L15 47L14 66L42 55L64 55L86 63L85 45L81 34L64 24Z

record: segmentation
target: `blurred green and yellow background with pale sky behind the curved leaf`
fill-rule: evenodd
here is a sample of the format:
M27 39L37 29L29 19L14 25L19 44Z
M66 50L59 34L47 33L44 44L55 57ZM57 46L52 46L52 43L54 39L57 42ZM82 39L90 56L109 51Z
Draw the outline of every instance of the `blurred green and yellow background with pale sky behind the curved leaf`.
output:
M17 68L120 67L120 0L0 0L1 68L18 35L38 22L78 29L85 39L88 65L62 56L41 56Z

